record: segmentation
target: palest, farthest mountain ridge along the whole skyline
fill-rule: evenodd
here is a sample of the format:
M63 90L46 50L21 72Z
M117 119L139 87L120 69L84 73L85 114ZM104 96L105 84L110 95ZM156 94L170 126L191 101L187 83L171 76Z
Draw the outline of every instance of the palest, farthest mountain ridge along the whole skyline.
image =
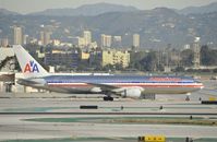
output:
M160 7L154 8L158 9ZM152 10L154 10L152 9ZM170 9L170 8L166 8ZM209 12L217 12L217 2L213 2L207 5L202 7L186 7L184 9L178 10L178 9L170 9L176 11L179 14L203 14L203 13L209 13ZM135 12L141 11L140 9L131 5L122 5L122 4L112 4L112 3L95 3L95 4L83 4L77 8L61 8L61 9L47 9L39 12L33 12L28 14L22 14L22 15L49 15L49 16L94 16L99 15L104 13L110 13L110 12ZM143 11L143 10L142 10ZM0 8L0 13L4 14L12 14L12 15L20 15L21 13L10 11L7 9Z

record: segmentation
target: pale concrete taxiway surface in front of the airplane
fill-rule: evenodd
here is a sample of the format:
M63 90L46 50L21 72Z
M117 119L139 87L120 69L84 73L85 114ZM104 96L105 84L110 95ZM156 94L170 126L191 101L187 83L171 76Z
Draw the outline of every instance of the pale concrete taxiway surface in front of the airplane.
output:
M80 109L81 105L96 105L98 109ZM202 119L198 123L148 123L147 118ZM109 118L109 120L108 120ZM129 119L116 121L116 119ZM55 119L55 120L53 120ZM135 119L143 119L134 121ZM67 121L65 121L67 120ZM164 134L169 138L212 138L217 140L217 106L198 100L134 100L101 98L0 98L0 141L60 138L121 138ZM130 121L130 122L129 122ZM125 141L125 140L124 140ZM129 140L130 141L130 140Z

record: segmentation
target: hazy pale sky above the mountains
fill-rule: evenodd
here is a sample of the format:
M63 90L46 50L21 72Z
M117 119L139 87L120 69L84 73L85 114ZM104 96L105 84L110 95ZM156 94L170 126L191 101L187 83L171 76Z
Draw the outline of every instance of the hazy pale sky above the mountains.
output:
M77 8L82 4L98 2L133 5L141 10L146 10L156 7L174 9L190 5L200 7L217 2L217 0L0 0L0 8L25 14L45 9Z

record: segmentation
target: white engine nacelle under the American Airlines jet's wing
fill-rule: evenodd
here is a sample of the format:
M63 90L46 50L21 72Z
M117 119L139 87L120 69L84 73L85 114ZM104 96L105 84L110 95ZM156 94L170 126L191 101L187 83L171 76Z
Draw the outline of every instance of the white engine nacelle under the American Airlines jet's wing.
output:
M138 88L125 88L122 93L122 97L140 98L142 95L142 90Z

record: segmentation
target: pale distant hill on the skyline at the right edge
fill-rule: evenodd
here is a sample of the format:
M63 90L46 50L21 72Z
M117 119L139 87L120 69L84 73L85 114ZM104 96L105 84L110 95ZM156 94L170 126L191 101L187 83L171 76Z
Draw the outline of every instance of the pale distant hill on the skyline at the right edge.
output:
M188 7L179 11L181 14L203 14L217 12L217 2L203 7Z

